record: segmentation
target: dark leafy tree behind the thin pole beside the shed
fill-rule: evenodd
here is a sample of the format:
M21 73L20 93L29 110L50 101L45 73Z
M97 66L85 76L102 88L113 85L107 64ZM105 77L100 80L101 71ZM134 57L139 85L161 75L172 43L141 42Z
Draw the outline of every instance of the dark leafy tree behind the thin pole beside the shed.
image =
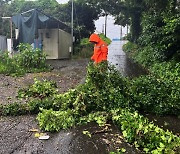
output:
M83 0L74 1L74 34L78 40L94 32L94 20L98 19L99 14L99 9L87 5ZM71 2L60 5L56 17L70 25Z

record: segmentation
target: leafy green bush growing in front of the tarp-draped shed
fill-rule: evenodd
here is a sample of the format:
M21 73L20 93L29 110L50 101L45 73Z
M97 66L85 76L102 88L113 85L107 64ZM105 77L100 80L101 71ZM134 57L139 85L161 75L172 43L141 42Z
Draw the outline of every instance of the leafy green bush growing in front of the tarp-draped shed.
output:
M11 76L21 76L28 72L42 72L49 70L45 63L46 55L39 49L32 49L31 45L20 44L19 53L12 58L8 53L0 55L0 73Z

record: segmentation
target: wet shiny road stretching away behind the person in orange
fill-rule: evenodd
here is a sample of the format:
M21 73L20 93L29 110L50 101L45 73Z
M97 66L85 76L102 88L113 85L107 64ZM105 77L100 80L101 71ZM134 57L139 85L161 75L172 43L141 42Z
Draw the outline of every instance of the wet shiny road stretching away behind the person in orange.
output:
M123 76L138 77L143 74L147 74L147 71L128 58L126 53L122 50L122 46L127 41L113 41L109 45L108 61L115 65L118 71Z

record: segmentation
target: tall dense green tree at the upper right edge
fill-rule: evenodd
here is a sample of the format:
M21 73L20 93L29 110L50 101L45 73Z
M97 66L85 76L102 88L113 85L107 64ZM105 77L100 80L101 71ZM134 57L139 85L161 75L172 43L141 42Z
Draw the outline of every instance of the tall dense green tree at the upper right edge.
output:
M180 14L178 0L146 0L142 18L141 46L152 48L160 59L171 59L180 50Z

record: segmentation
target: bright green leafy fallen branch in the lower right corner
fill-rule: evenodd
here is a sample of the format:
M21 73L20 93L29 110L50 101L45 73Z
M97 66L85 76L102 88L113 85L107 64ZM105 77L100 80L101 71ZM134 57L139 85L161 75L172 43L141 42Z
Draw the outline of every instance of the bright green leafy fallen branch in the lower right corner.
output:
M175 153L180 147L180 138L155 126L147 118L128 109L112 111L112 119L121 129L124 138L145 153Z

